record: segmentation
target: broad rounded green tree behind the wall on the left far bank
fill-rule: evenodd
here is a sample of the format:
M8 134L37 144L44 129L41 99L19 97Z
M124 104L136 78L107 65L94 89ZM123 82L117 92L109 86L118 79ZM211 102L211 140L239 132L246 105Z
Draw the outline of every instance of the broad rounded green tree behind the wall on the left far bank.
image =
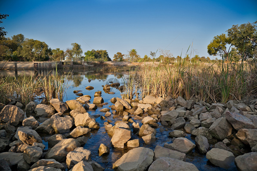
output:
M47 61L51 48L43 41L26 39L22 47L18 47L18 52L25 61Z

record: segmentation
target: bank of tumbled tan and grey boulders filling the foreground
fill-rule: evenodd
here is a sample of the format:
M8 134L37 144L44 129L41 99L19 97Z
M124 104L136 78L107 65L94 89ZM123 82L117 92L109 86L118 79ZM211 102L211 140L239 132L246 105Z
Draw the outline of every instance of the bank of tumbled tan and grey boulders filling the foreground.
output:
M52 99L50 105L30 102L25 112L35 112L38 120L33 116L24 118L18 102L5 106L0 113L0 170L104 170L91 159L91 151L81 147L91 130L100 128L97 116L87 113L88 109L96 109L96 104L105 104L100 94L95 93L93 103L89 103L89 95L82 94L66 102ZM131 148L113 162L115 170L198 170L186 162L186 155L194 148L218 167L236 165L238 170L249 171L257 168L257 99L209 104L149 95L133 101L112 98L111 102L112 112L104 108L100 116L107 120L104 125L112 137L111 145ZM111 124L108 118L117 116L122 120ZM143 125L140 127L135 120ZM154 150L139 147L141 138L145 143L156 141L156 128L160 126L160 131L173 129L166 135L172 143L157 145ZM52 134L47 139L47 150L39 135L42 133ZM195 143L185 138L186 134L194 136ZM99 156L109 152L110 147L100 145Z

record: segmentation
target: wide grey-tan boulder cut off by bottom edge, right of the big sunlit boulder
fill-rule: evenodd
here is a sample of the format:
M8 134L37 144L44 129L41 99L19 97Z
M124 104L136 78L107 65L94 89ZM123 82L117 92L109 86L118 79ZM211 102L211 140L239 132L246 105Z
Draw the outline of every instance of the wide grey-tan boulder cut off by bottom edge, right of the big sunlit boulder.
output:
M181 161L175 158L160 157L155 160L148 171L156 170L183 170L183 171L198 171L194 164Z

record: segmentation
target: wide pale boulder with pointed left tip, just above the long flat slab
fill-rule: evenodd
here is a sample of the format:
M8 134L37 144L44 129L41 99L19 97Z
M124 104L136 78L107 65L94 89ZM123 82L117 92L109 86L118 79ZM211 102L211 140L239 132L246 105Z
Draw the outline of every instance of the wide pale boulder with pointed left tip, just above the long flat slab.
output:
M173 143L169 144L166 148L171 150L176 150L183 153L188 153L193 148L195 148L195 144L187 138L179 137L176 138Z

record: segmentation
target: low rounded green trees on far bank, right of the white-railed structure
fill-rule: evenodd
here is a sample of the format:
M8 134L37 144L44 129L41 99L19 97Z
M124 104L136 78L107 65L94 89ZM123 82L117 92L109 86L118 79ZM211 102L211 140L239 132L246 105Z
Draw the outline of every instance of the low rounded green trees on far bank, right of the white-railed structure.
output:
M111 61L106 50L94 50L85 52L85 61Z

